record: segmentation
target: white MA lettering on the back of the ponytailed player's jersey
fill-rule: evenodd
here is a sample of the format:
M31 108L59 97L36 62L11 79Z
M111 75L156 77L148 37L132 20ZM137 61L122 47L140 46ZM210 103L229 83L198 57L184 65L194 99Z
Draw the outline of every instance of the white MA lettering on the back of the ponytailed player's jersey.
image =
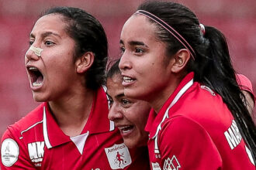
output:
M227 131L224 132L224 135L227 139L228 144L230 145L231 150L236 148L242 140L242 136L239 132L236 121L234 120L232 121L230 128L228 128Z

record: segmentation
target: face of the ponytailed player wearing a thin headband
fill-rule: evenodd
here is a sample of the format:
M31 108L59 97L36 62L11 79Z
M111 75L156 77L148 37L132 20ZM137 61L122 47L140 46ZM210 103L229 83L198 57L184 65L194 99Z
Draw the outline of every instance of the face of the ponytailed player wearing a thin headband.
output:
M171 59L166 56L164 42L156 38L155 30L156 26L145 16L132 15L120 36L123 54L119 68L125 95L150 104L152 100L166 100L170 95L166 90L171 83Z

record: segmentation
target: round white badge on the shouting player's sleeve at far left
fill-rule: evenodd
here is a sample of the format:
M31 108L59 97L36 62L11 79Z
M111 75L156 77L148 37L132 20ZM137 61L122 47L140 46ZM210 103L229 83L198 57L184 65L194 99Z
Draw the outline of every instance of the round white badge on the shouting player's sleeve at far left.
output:
M11 138L5 139L1 147L2 164L7 167L12 166L18 160L18 156L19 146L16 141Z

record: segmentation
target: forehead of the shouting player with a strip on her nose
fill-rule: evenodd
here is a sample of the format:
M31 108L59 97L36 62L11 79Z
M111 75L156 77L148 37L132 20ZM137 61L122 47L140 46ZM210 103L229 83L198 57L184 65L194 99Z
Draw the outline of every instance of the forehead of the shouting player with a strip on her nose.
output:
M43 15L38 19L33 26L31 34L37 34L41 32L57 32L57 34L65 34L65 27L67 24L61 15L49 14Z

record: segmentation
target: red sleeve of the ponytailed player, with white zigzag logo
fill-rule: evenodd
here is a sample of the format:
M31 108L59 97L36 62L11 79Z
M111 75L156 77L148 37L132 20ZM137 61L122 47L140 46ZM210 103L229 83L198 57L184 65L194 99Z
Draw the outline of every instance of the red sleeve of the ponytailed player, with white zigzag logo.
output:
M162 169L221 169L220 154L209 134L187 117L165 121L158 146Z

